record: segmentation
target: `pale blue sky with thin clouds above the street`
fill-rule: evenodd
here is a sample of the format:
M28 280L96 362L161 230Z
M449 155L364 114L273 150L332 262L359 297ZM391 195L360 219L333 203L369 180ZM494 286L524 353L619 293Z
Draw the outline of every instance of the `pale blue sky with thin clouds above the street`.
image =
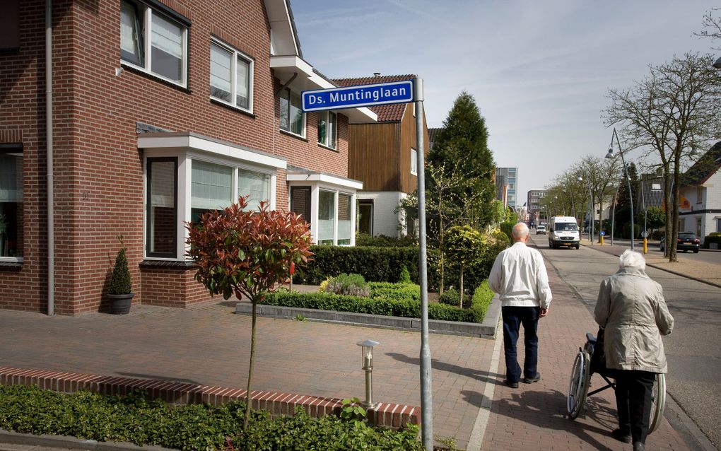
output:
M329 78L416 74L429 127L474 96L518 205L611 142L609 89L648 66L715 53L694 36L719 0L291 0L304 59ZM628 160L637 158L629 154Z

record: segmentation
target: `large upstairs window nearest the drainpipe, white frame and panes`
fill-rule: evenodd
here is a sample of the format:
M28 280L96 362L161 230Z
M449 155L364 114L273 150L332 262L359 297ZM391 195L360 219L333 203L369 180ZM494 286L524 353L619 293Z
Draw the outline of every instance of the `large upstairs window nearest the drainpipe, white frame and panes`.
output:
M120 59L162 79L185 86L187 27L145 4L122 1Z

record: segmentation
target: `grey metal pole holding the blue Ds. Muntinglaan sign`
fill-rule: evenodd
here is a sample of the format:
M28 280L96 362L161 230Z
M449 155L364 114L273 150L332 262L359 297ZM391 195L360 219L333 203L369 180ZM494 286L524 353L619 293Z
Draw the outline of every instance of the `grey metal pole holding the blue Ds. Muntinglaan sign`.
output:
M415 139L418 177L418 273L420 278L420 431L426 451L433 451L433 390L431 390L428 344L428 258L425 247L425 165L423 141L423 79L413 80L415 89Z

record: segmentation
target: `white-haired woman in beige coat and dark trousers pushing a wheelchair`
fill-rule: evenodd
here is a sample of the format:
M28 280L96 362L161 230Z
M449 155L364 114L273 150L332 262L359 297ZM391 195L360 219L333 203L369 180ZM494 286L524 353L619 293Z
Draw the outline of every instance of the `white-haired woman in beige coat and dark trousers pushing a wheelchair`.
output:
M601 282L596 323L605 329L606 367L615 371L619 429L611 435L644 450L657 373L665 373L661 335L673 330L660 284L646 275L643 255L622 253L619 271Z

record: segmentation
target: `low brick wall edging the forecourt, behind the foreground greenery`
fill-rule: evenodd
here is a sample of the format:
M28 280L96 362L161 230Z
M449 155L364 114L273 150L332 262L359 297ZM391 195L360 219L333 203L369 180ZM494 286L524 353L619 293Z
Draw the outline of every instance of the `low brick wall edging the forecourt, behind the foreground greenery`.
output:
M43 390L75 393L89 390L105 395L125 395L134 388L144 388L149 399L162 399L168 403L207 403L218 406L230 400L242 400L246 390L231 387L190 384L168 380L139 379L136 377L115 377L83 375L72 372L46 371L44 369L22 369L0 367L1 385L37 385ZM319 417L340 414L340 398L319 398L309 395L253 390L253 408L269 411L273 416L292 416L296 406L304 408L310 416ZM420 408L405 404L378 403L368 411L368 422L377 426L398 428L404 424L420 424Z

